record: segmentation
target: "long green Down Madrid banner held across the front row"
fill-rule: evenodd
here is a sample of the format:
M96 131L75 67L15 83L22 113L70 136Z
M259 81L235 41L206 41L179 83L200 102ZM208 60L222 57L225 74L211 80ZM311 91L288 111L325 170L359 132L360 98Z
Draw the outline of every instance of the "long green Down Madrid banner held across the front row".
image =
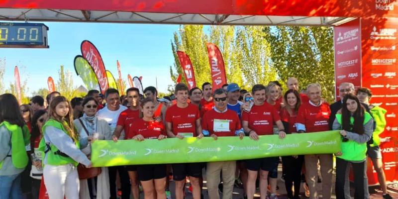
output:
M92 144L91 160L95 167L120 165L214 162L304 154L328 154L340 150L339 131L249 137L188 137L144 141L98 140Z

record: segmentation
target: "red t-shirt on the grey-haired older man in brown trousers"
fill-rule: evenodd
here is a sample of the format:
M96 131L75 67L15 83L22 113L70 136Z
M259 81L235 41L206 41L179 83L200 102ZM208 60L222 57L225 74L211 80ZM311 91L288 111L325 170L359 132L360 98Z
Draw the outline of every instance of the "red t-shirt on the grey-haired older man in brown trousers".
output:
M301 104L298 108L297 123L305 125L306 132L329 130L330 107L327 102L320 106L311 105L309 102Z

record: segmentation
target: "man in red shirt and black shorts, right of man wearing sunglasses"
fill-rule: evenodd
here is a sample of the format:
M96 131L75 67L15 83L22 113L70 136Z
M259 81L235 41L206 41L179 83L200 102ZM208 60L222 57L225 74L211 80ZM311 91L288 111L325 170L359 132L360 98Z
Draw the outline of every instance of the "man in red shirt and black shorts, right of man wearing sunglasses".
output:
M249 112L244 111L242 114L243 130L249 134L253 140L260 139L259 135L273 135L274 123L278 126L279 137L285 138L286 133L278 114L278 111L269 103L265 102L264 85L254 85L252 88L254 105ZM253 199L256 191L257 173L260 170L260 198L265 199L267 196L268 173L275 170L278 166L279 157L259 158L246 161L248 170L247 180L247 198ZM277 179L270 178L270 185L276 187ZM271 194L270 199L276 198L276 194Z

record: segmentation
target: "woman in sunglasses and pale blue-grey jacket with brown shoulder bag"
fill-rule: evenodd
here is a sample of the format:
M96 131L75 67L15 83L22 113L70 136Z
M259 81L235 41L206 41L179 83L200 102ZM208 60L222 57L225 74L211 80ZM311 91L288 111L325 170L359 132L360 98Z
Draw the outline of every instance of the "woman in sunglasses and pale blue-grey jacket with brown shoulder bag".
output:
M112 133L108 123L97 117L98 101L92 97L85 98L82 102L83 116L75 119L73 123L80 134L80 148L87 156L91 155L91 143L95 140L111 140ZM95 185L97 193L92 189ZM80 181L80 198L108 199L109 193L108 168L102 167L99 176Z

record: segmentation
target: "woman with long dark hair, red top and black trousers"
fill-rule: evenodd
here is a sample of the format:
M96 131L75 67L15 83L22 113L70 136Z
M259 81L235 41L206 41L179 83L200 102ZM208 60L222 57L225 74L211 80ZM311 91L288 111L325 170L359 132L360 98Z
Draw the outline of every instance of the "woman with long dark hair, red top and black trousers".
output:
M285 126L286 133L296 133L296 118L298 107L301 105L300 94L296 90L288 90L284 95L285 107L281 108L281 120ZM302 155L283 156L283 169L285 174L285 187L289 199L299 199L301 184L301 166L304 157ZM292 187L295 185L295 194L293 196Z

